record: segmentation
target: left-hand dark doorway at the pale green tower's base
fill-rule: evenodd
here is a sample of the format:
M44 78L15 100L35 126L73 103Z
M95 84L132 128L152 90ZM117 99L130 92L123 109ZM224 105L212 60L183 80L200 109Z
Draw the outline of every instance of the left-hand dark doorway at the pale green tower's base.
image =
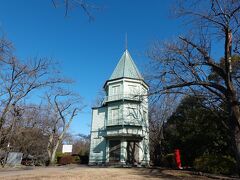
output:
M119 162L121 154L121 141L110 140L109 141L109 162Z

